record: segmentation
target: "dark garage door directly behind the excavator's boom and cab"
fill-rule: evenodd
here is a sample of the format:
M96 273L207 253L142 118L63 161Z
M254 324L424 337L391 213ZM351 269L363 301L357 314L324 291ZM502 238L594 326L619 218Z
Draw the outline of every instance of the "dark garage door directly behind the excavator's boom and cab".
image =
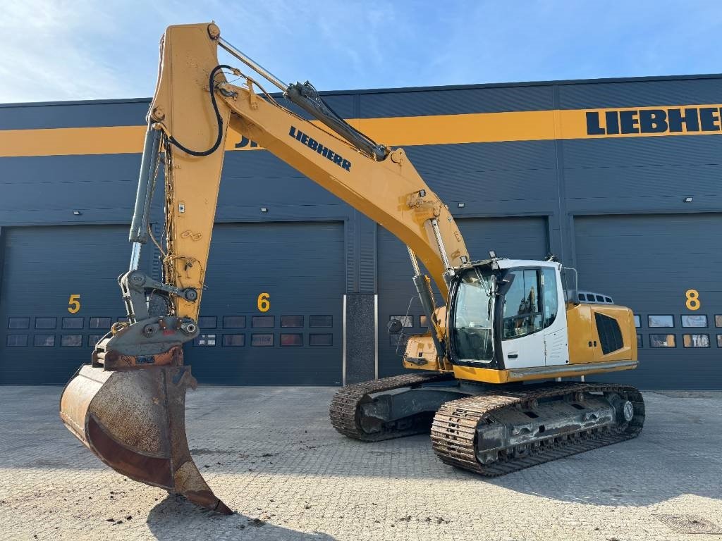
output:
M547 255L547 219L465 218L457 220L472 259L488 258L496 250L503 258L541 259ZM412 268L404 244L386 229L378 229L378 375L399 374L401 348L398 337L389 335L386 325L392 317L406 315L406 335L425 330L422 308L412 283ZM445 302L445 299L439 299ZM409 307L410 303L410 307Z

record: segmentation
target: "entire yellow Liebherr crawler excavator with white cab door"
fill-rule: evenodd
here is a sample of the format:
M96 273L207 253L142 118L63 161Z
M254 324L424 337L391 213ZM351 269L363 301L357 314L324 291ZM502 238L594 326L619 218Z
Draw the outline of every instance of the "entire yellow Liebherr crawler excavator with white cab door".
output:
M256 75L220 64L219 47L314 120L284 107ZM230 84L227 76L243 85ZM430 429L443 462L482 475L640 433L644 403L638 390L583 382L588 374L637 366L631 310L568 296L564 269L554 258L511 260L490 252L490 258L471 260L453 216L404 150L377 144L349 125L308 82L285 84L230 45L214 23L171 26L161 40L147 121L130 268L118 278L128 322L113 325L97 343L92 363L81 366L60 403L66 426L113 469L230 513L188 449L186 387L195 388L196 381L183 364L183 343L199 335L229 128L408 247L429 322L427 333L406 343L404 367L417 374L343 387L330 407L339 432L378 441ZM157 240L149 211L161 164L165 230ZM139 269L149 239L162 252L160 281ZM431 280L447 299L445 307L435 301Z

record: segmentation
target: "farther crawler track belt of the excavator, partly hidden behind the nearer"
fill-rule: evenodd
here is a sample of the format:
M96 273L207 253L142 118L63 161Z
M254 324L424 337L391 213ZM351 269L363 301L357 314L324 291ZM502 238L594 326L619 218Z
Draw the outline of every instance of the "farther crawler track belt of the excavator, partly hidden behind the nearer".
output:
M390 391L401 387L414 387L416 385L440 382L453 379L445 374L403 374L401 376L374 379L369 382L347 385L342 387L331 400L329 417L331 425L344 436L360 441L381 441L384 439L401 438L413 434L428 433L427 423L414 423L411 428L402 430L388 428L384 431L369 433L361 426L360 406L368 395L376 392ZM370 399L369 399L370 400Z

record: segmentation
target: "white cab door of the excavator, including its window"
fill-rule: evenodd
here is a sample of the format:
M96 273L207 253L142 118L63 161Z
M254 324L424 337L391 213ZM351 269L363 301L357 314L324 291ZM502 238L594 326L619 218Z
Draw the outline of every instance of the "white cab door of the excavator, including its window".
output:
M503 297L502 353L506 368L544 366L544 327L541 312L541 273L538 268L508 271L511 280Z

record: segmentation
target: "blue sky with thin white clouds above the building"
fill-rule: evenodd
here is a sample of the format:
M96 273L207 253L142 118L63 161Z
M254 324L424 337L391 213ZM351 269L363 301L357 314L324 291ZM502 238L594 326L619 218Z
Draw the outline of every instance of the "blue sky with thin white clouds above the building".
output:
M1 10L0 102L149 97L165 27L210 19L284 81L321 90L722 72L721 0L4 0Z

